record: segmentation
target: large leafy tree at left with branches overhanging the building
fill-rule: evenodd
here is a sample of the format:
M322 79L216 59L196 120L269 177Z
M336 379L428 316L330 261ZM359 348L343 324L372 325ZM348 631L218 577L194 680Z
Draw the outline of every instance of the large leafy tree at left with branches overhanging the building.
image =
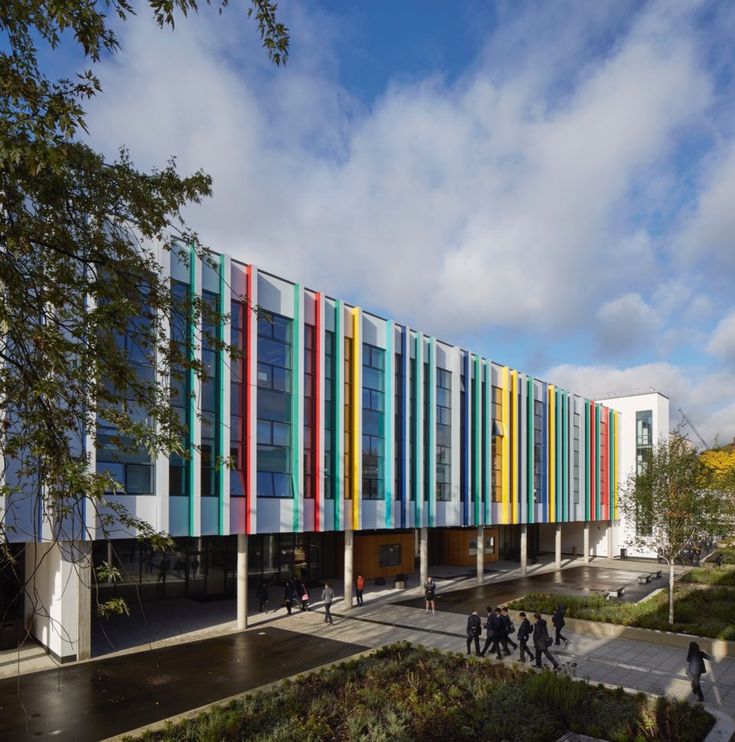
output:
M161 27L198 9L197 0L148 4ZM227 4L220 0L220 12ZM165 534L109 497L124 483L92 470L89 447L185 456L171 387L190 372L202 379L205 369L167 328L221 318L220 308L172 296L159 270L161 251L210 254L181 216L211 195L209 176L181 175L173 158L140 172L125 149L107 161L81 141L85 102L102 92L92 69L54 80L39 64L37 45L53 51L62 37L90 67L114 54L119 42L107 14L125 21L134 5L0 5L0 566L12 561L9 539L40 535L35 519L33 533L13 533L29 498L54 539L80 538L91 506L104 534L123 527L165 546ZM289 37L276 11L271 0L249 0L266 53L281 65ZM106 575L114 577L109 565Z

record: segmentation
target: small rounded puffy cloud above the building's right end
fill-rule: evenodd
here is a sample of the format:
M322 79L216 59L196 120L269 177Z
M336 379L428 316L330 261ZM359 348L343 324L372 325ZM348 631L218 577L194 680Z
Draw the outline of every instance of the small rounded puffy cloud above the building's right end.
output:
M600 350L620 356L655 346L661 319L639 294L623 294L603 304L597 312Z

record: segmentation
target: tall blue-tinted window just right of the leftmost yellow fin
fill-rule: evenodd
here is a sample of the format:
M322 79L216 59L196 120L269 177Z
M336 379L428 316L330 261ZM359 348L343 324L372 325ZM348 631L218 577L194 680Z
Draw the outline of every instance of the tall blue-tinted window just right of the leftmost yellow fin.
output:
M385 351L362 344L362 497L382 500L385 439Z

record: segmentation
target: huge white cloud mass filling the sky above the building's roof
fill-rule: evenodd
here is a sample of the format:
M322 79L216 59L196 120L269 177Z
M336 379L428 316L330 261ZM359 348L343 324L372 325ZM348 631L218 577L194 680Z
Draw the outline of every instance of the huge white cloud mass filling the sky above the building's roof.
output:
M580 12L567 46L534 42L542 68L571 68L585 23L604 20ZM176 153L213 175L215 197L191 221L216 248L444 336L580 327L621 283L655 281L653 246L622 204L710 95L666 5L583 65L555 105L556 78L514 76L512 60L496 74L486 58L450 87L394 84L369 111L311 47L306 62L260 72L227 18L175 34L126 24L90 117L108 151L125 142L159 164ZM295 36L317 36L295 20Z

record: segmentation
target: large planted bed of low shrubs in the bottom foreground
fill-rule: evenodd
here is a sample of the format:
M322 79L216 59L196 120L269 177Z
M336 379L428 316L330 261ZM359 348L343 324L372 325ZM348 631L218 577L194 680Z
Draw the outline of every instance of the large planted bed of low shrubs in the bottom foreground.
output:
M547 742L572 731L611 742L698 742L712 724L685 702L401 643L140 739Z

